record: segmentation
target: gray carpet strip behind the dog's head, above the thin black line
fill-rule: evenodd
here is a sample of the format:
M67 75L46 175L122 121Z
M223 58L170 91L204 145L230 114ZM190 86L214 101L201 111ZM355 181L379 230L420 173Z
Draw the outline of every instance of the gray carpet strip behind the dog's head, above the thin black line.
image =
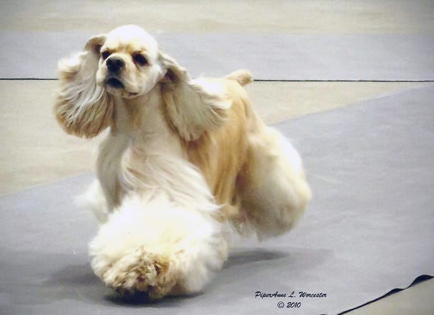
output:
M59 58L81 50L91 35L0 32L0 78L56 78ZM259 80L434 80L431 35L153 35L192 76L248 68Z

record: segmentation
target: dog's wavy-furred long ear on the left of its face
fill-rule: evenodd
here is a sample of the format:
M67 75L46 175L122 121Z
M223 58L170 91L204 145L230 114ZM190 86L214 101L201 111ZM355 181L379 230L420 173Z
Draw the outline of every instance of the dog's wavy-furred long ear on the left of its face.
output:
M66 133L93 138L112 123L111 96L96 85L99 51L104 41L105 35L94 36L84 51L59 61L60 88L54 114Z

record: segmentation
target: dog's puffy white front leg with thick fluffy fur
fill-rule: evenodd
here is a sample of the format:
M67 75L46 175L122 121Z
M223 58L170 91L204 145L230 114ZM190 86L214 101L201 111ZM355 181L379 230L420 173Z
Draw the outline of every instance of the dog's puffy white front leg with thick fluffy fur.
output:
M92 268L107 286L151 299L200 291L227 252L221 223L164 192L126 197L90 244Z

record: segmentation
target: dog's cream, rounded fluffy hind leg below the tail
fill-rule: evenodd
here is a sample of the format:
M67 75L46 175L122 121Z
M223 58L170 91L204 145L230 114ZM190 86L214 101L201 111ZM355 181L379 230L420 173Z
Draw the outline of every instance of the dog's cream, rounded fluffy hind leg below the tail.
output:
M259 239L287 232L311 200L300 155L277 130L261 125L248 135L250 153L239 176L244 217Z

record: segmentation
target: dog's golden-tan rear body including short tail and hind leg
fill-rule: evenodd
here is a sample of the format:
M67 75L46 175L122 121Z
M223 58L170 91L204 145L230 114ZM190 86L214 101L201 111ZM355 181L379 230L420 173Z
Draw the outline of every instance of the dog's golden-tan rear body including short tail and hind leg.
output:
M253 81L251 73L206 80L224 86L231 107L223 125L188 145L188 159L238 232L255 231L259 238L287 232L311 199L300 156L251 107L243 88Z

